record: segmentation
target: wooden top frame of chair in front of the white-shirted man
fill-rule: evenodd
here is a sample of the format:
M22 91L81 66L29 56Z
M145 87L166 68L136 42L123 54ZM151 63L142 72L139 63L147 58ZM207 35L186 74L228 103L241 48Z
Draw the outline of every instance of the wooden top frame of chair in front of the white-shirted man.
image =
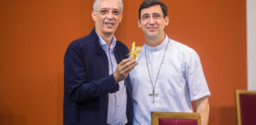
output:
M159 125L158 119L197 119L201 125L201 115L195 112L151 112L151 125Z

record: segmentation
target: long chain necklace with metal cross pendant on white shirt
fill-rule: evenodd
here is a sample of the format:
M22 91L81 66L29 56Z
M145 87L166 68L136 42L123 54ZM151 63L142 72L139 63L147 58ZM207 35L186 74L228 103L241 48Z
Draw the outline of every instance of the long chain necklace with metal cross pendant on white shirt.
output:
M168 47L169 43L170 43L170 39L169 39L169 41L168 41L168 43L167 43L167 45L166 45L166 48L165 48L165 50L164 50L164 56L163 56L162 62L161 62L161 64L160 64L158 73L157 73L157 78L158 78L160 69L161 69L161 67L162 67L162 64L163 64L163 62L164 62L164 57L165 57L166 50L167 50L167 47ZM145 46L146 46L146 45L145 45ZM145 61L147 62L147 68L148 68L147 52L145 52ZM151 75L150 75L149 68L148 68L148 75L150 76L150 82L151 82L151 84L152 84L152 94L149 94L149 96L152 96L152 101L151 101L151 102L152 102L152 103L155 103L155 97L157 97L157 95L158 95L158 94L155 94L155 84L157 84L157 78L155 79L155 84L153 84L152 78L151 78Z

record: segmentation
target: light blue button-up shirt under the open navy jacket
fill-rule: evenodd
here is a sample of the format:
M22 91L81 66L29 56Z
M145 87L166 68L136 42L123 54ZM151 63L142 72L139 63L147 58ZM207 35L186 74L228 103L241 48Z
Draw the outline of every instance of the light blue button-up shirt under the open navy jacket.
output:
M99 34L98 34L99 36ZM111 45L108 48L108 45L104 41L101 36L99 36L99 43L101 47L106 52L108 57L108 68L109 75L115 72L115 69L118 66L117 61L114 56L114 47L116 44L115 36L113 36ZM125 87L125 82L122 80L119 84L119 91L116 91L113 94L108 94L108 124L127 124L127 116L126 116L126 105L127 105L127 91Z

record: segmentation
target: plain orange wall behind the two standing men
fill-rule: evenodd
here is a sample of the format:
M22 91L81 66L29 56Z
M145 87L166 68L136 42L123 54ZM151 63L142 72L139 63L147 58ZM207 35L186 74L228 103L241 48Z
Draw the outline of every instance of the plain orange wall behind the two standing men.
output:
M142 0L124 0L115 36L143 45ZM236 124L235 89L246 89L246 1L163 0L166 34L196 50L211 89L210 124ZM62 124L63 57L90 33L93 1L0 1L0 124Z

